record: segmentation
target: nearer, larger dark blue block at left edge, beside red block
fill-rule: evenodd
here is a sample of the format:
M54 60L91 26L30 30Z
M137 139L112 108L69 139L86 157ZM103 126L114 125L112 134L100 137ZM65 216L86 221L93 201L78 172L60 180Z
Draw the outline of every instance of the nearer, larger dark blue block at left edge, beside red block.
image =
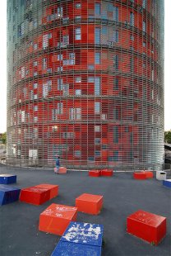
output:
M0 185L0 206L18 201L21 189L7 185Z

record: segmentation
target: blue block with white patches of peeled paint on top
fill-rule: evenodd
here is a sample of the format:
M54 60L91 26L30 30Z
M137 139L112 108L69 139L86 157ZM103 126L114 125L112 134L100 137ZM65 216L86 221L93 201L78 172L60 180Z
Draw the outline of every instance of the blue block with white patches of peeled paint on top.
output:
M104 226L99 224L71 222L61 241L101 246Z

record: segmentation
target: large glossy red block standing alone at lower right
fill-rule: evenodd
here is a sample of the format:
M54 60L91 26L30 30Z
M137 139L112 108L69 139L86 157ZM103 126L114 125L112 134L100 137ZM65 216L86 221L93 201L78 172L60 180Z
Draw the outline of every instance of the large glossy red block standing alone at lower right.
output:
M166 218L147 211L136 211L127 217L127 232L157 245L166 235Z

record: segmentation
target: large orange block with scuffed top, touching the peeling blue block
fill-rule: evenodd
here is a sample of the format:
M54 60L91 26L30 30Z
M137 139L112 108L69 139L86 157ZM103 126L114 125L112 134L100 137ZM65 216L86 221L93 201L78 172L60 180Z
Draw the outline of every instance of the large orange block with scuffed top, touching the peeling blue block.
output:
M71 221L76 221L77 208L58 204L50 205L39 216L39 230L63 235Z

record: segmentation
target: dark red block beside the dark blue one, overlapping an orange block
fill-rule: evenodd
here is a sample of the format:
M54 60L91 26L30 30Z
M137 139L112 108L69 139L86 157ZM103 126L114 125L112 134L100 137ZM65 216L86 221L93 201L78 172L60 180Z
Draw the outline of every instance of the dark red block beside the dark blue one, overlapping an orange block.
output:
M41 205L50 199L50 189L43 187L25 187L21 189L20 201L33 205Z

